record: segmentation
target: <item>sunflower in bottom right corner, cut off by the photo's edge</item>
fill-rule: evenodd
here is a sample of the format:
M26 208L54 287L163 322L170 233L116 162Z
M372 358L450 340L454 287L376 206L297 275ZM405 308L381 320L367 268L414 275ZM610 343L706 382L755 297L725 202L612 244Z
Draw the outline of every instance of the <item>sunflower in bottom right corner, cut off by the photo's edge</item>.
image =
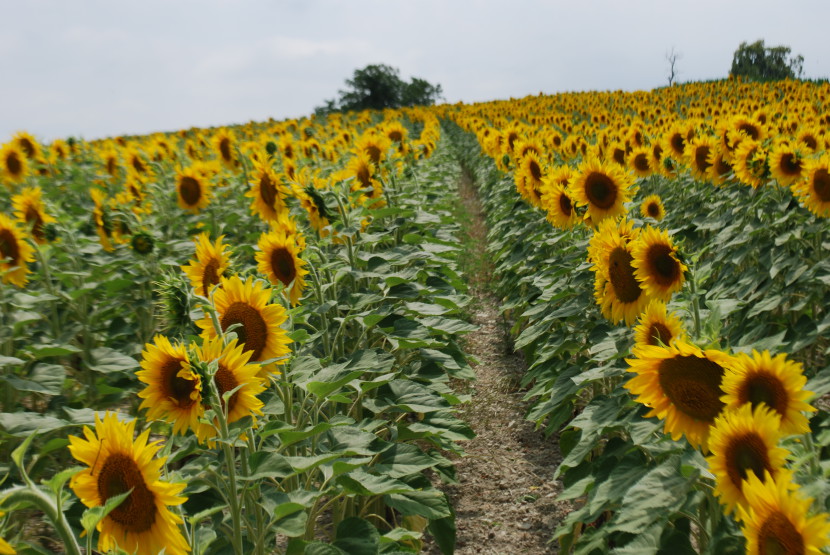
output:
M823 553L830 535L827 514L807 516L813 500L793 491L790 473L761 480L753 472L743 492L749 508L738 507L738 516L749 555Z

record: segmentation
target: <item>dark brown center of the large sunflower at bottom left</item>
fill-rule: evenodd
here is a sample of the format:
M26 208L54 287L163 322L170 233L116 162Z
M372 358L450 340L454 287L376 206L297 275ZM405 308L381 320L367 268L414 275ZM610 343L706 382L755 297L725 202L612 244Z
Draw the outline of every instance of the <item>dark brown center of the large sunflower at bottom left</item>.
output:
M128 532L146 532L156 521L155 496L132 457L123 453L109 455L98 473L101 504L130 489L133 491L129 497L108 516Z

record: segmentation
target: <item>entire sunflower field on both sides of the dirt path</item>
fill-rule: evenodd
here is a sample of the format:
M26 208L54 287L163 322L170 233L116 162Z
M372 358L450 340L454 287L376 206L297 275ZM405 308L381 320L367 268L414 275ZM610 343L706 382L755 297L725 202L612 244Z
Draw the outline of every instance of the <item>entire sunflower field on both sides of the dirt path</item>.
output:
M0 148L0 553L455 549L458 182L574 553L830 545L830 85Z

